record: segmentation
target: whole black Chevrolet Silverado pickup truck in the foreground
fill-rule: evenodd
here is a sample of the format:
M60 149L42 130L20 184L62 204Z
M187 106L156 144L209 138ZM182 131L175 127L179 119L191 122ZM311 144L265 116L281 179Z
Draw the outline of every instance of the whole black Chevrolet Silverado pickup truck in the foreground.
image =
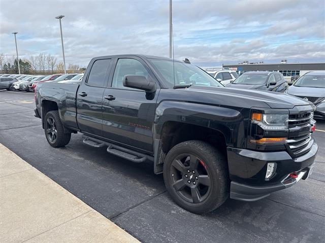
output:
M253 201L306 179L317 152L309 101L225 88L188 61L93 58L80 84L35 91L48 143L83 143L164 173L172 198L203 214L229 196Z

